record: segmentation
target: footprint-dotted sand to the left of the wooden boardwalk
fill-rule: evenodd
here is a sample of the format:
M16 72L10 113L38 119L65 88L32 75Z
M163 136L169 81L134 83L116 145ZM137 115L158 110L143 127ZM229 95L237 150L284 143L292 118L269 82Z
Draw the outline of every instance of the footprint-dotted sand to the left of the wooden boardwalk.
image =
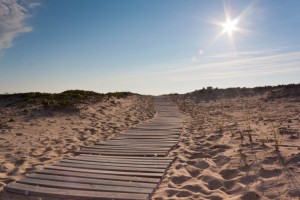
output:
M137 95L80 103L76 110L8 104L0 100L0 199L21 198L1 191L4 184L74 156L82 146L112 138L155 114L151 98Z

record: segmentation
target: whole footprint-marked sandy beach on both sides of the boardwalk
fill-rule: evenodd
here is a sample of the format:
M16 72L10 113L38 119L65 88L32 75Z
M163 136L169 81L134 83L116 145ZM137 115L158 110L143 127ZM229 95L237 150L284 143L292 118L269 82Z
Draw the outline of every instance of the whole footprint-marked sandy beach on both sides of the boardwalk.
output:
M299 85L168 95L186 114L176 160L151 199L299 199ZM1 101L1 186L155 115L131 95L51 110ZM2 188L2 187L1 187ZM0 192L0 199L56 200Z

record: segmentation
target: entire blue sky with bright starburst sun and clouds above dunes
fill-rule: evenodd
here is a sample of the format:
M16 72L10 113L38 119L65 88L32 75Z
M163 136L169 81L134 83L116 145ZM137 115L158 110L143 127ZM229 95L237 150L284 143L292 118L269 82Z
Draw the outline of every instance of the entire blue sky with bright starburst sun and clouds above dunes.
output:
M299 0L0 0L0 93L300 82Z

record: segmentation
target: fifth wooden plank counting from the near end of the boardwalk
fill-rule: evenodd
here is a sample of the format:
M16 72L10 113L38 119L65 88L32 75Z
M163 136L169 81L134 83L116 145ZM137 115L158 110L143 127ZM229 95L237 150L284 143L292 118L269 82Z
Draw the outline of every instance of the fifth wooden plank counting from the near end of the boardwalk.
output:
M65 170L65 171L72 171L72 172L89 172L95 174L139 176L139 177L150 177L150 178L161 178L161 176L163 175L163 173L158 173L158 172L146 173L146 172L111 171L111 170L82 169L82 168L61 167L61 166L46 166L45 169Z

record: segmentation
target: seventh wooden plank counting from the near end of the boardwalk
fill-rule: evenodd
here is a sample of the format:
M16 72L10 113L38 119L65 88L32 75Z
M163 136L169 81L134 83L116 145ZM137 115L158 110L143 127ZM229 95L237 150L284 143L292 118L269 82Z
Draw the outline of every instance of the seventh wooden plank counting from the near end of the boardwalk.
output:
M79 161L79 160L62 160L60 163L77 163L77 164L88 164L88 165L102 165L102 166L116 166L116 167L136 167L136 168L157 168L157 169L165 169L165 164L124 164L124 163L105 163L105 162L88 162L88 161Z

